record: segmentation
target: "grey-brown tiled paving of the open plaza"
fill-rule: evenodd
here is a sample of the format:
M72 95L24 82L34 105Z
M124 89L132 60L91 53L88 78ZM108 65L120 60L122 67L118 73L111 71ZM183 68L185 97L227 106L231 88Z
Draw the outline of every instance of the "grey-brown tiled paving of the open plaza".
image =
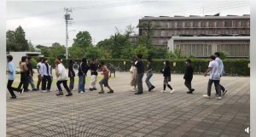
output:
M7 136L249 136L244 132L250 121L249 77L223 77L221 83L229 89L223 100L202 98L207 77L195 75L195 94L186 94L182 75L172 75L173 94L159 92L160 74L153 76L154 92L148 93L143 83L141 95L129 91L129 79L129 73L117 73L109 82L114 94L73 91L72 97L57 97L55 91L28 92L7 100Z

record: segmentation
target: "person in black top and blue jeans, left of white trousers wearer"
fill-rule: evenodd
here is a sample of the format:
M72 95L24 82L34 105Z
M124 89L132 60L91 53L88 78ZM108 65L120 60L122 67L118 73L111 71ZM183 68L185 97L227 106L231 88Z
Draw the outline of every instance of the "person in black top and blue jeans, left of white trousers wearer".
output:
M85 92L85 77L87 75L87 71L90 70L90 66L87 65L87 60L85 58L82 59L82 62L79 65L79 93L84 94Z

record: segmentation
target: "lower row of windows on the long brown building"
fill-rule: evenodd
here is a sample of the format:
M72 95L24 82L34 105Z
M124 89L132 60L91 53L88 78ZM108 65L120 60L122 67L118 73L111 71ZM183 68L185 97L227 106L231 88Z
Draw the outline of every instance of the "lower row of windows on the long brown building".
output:
M154 37L172 37L180 34L200 35L200 34L250 34L250 30L183 30L183 31L155 31Z

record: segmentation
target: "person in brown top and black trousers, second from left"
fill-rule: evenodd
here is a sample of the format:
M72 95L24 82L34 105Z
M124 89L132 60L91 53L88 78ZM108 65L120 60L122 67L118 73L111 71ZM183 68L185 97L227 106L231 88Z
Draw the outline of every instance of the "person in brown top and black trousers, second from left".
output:
M24 88L24 92L29 91L28 90L28 78L27 78L27 60L26 60L26 56L22 56L21 57L21 61L20 61L20 84L18 88L21 88L23 85Z

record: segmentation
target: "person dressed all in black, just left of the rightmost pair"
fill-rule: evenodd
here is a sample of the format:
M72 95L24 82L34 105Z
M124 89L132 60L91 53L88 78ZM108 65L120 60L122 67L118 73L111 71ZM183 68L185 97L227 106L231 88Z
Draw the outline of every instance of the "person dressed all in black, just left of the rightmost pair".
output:
M189 88L188 94L193 94L194 88L191 88L191 82L193 79L193 67L191 66L191 60L186 60L186 70L183 79L185 80L185 86Z

